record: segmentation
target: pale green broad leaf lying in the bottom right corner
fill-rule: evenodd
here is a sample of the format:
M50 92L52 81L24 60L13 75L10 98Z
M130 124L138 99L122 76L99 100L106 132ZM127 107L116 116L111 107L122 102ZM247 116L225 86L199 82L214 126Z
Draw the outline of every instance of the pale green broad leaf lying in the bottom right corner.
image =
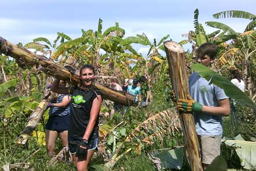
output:
M225 144L235 146L236 153L240 158L241 165L244 169L256 169L256 143L240 140L225 140Z

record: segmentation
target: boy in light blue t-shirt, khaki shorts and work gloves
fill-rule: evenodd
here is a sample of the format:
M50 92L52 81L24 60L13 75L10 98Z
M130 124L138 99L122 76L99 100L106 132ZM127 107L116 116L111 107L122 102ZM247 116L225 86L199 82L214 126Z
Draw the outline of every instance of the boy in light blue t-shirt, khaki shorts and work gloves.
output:
M204 43L196 51L196 61L210 67L217 55L218 47L213 43ZM220 155L222 137L222 116L229 116L229 98L217 85L193 73L189 77L191 99L180 99L178 109L193 111L196 132L202 154L202 165L206 167Z

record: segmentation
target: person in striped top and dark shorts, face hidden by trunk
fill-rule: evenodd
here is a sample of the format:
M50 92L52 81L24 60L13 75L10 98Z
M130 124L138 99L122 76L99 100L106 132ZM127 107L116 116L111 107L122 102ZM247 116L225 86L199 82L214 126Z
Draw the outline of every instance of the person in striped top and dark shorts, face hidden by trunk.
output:
M63 84L63 82L62 82ZM64 84L63 84L64 85ZM46 88L50 88L50 84ZM71 95L57 94L57 99L49 103L49 118L46 123L45 143L49 157L53 157L58 134L63 147L68 146L68 127L70 126Z

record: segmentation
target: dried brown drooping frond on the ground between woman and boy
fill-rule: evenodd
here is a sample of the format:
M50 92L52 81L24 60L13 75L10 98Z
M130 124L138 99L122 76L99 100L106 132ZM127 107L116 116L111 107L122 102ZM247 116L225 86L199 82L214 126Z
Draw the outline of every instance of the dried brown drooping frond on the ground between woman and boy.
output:
M146 146L153 144L155 142L153 137L162 139L163 133L173 133L177 128L181 128L181 126L174 109L167 109L155 114L131 131L126 140L119 145L113 157L105 163L104 169L111 170L124 154L132 150L131 146L129 146L130 148L119 155L120 150L126 143L133 144L136 147L136 151L140 152L141 144Z

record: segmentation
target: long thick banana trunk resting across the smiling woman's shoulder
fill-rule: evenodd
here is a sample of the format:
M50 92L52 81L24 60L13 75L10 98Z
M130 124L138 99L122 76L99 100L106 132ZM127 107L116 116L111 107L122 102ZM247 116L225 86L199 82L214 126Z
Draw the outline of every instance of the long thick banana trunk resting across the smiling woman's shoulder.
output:
M61 80L67 80L74 85L79 84L78 75L71 75L71 73L68 72L68 70L63 66L55 64L53 61L48 60L45 56L36 55L31 51L28 51L23 47L16 46L15 44L8 42L1 37L0 53L13 57L21 67L36 65L36 68L41 68L42 72L45 72L47 75ZM111 88L107 88L98 83L94 83L94 85L101 91L103 98L105 99L109 99L110 101L117 102L125 106L137 105L135 102L135 96L133 95L112 90Z

